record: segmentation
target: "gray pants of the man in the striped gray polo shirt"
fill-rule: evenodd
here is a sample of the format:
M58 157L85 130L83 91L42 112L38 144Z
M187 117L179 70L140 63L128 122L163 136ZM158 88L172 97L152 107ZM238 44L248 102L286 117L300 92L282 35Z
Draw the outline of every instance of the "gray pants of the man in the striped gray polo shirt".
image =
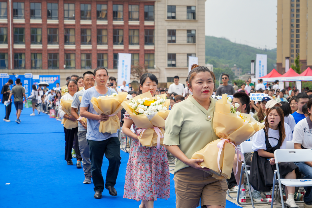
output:
M91 176L91 162L89 144L87 141L87 131L78 131L79 150L82 157L82 167L85 176Z

